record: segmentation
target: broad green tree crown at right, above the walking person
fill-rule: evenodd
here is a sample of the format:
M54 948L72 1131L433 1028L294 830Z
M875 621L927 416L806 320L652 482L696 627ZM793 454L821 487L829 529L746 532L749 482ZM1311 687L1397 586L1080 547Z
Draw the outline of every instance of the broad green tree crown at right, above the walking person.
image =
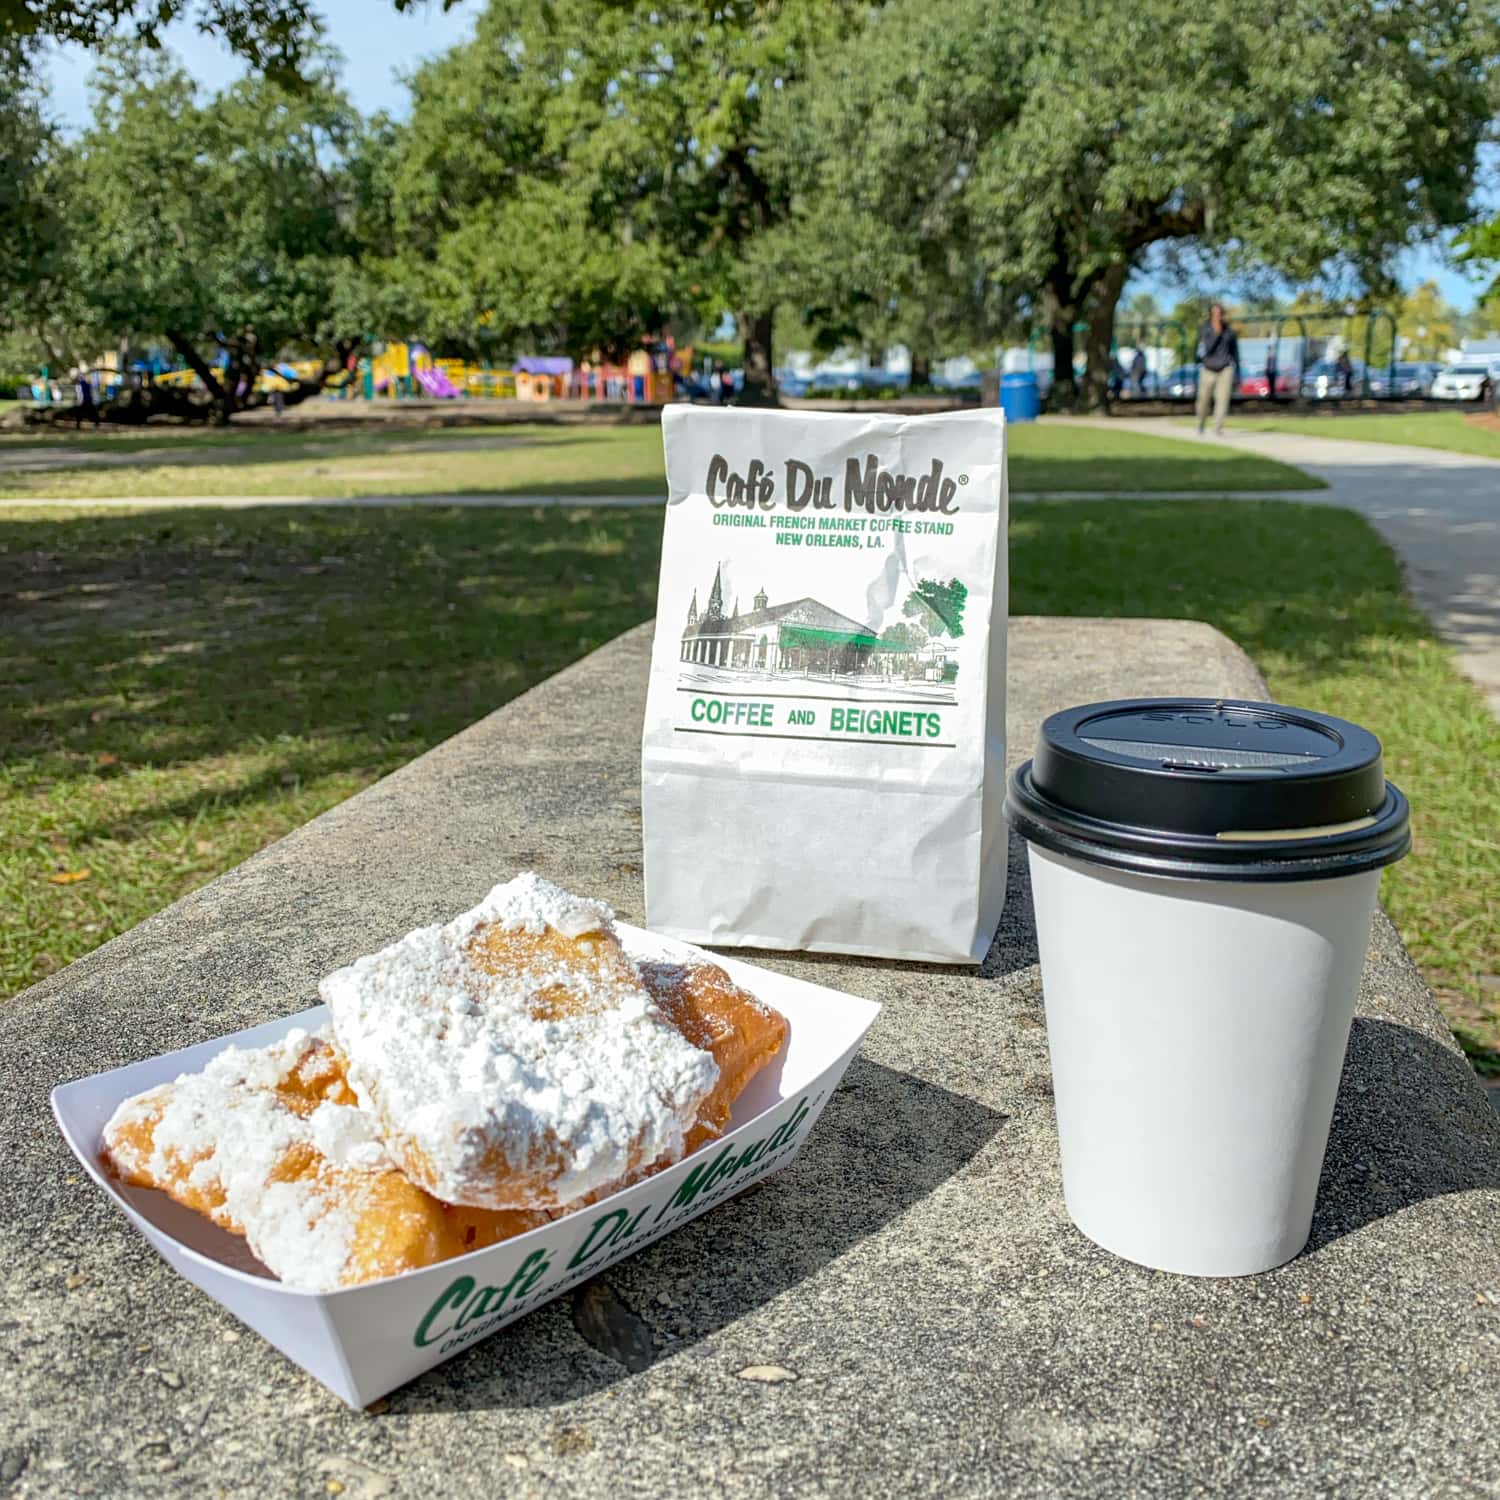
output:
M1492 8L1466 0L892 0L774 123L806 158L786 270L844 258L878 288L890 266L900 297L956 240L1052 330L1064 390L1088 321L1098 394L1148 246L1382 290L1402 246L1461 222L1497 54Z

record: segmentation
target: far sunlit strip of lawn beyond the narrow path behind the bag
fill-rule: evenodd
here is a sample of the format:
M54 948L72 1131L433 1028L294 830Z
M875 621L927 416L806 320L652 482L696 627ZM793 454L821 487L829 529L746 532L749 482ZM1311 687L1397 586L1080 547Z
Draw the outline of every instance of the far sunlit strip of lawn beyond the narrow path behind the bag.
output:
M1011 430L1017 490L1318 489L1256 454L1134 432L1046 423ZM69 465L76 453L82 462ZM45 468L14 468L14 464ZM658 495L654 424L166 430L0 438L0 496L578 494Z

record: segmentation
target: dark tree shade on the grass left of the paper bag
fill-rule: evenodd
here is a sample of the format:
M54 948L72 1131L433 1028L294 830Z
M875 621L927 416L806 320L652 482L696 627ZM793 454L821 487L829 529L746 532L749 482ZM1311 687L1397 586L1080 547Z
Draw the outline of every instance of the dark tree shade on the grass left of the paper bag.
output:
M274 774L186 790L153 822L410 759L645 618L660 526L530 508L0 522L0 754L56 783L96 780L100 753L189 765L285 742ZM105 824L88 832L129 837L132 819Z

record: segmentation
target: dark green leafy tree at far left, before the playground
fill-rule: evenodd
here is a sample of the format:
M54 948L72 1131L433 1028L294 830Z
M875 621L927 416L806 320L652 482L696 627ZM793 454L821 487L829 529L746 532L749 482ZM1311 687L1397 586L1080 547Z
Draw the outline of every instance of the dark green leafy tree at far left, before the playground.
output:
M164 54L110 52L93 124L64 156L75 344L166 340L220 416L262 362L316 351L336 366L369 327L360 140L327 66L297 88L252 76L204 99Z

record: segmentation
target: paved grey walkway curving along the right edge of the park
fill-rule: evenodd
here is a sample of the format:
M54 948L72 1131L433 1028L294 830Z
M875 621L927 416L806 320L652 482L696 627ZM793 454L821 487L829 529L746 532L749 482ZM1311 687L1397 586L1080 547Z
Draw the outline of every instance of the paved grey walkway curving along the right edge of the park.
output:
M1344 506L1374 524L1406 566L1418 603L1500 716L1500 459L1257 429L1200 438L1170 418L1077 420L1258 453L1324 480L1328 489L1294 498Z

